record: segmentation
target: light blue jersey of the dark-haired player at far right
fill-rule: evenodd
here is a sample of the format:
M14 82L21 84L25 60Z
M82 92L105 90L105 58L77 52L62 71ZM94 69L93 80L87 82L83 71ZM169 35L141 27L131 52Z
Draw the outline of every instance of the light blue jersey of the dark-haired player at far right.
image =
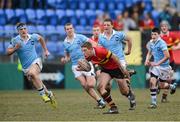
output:
M149 41L147 44L147 48L152 53L154 62L156 63L164 58L163 51L168 50L166 42L164 42L164 40L162 40L161 38L158 38L156 42ZM160 64L160 66L169 66L169 59Z

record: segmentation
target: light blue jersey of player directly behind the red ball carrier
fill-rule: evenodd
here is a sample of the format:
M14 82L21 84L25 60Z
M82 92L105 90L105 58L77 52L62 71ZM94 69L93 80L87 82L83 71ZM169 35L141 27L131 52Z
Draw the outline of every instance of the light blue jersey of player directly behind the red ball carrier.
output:
M113 52L120 60L125 60L123 51L125 36L124 32L113 30L110 40L107 40L104 34L100 34L98 43Z

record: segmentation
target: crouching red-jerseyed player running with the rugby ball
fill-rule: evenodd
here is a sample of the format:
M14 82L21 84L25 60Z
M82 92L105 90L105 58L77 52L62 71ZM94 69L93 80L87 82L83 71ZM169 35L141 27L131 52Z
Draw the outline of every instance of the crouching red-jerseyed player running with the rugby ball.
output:
M110 106L110 109L106 114L118 113L117 106L113 102L111 95L106 90L106 85L108 85L113 78L117 81L120 92L129 99L129 110L134 110L136 106L135 96L132 93L128 82L122 80L124 78L130 79L130 75L128 71L123 68L118 57L103 47L93 47L90 42L85 42L81 47L82 52L88 61L92 61L93 64L101 66L97 89L102 98Z

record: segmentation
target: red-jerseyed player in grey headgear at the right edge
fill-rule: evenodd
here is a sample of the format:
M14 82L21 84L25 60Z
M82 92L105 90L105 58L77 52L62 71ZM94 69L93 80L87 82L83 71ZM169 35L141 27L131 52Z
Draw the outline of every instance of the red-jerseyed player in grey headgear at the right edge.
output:
M172 50L180 49L180 38L178 34L169 31L169 23L167 21L162 21L160 23L161 28L161 38L166 42L170 54L170 65L174 70L174 57ZM172 81L169 81L171 83ZM164 90L161 98L161 102L167 102L168 90Z

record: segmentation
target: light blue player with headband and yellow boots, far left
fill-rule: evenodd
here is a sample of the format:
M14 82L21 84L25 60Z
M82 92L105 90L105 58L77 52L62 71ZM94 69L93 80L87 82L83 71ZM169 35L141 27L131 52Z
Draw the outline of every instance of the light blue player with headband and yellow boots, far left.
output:
M56 107L56 101L52 91L47 90L46 86L39 78L42 62L37 56L35 43L38 41L41 43L44 54L47 57L50 53L44 39L38 34L28 34L27 27L24 23L18 23L16 28L19 35L12 38L10 45L7 48L7 54L11 55L15 52L17 53L24 74L27 76L28 80L33 82L33 85L39 91L43 101L45 103L51 102L52 105Z

